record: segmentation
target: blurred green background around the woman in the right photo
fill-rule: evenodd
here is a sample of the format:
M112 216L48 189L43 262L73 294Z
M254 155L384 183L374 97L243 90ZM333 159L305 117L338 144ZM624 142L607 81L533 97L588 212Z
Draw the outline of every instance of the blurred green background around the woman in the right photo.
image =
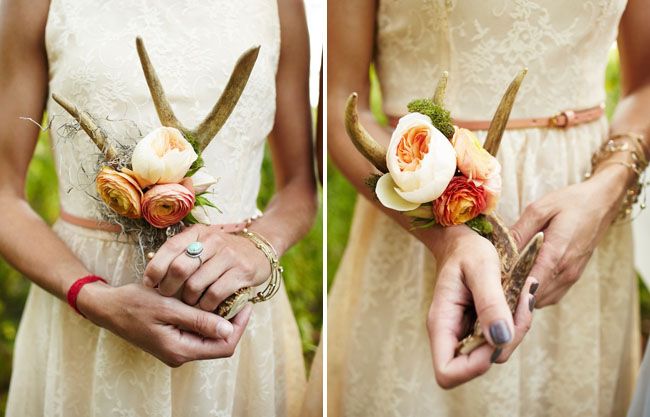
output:
M386 117L381 110L381 91L374 71L370 70L371 107L375 117L386 123ZM610 51L605 89L607 91L607 115L611 117L619 98L619 61L618 51ZM352 220L356 192L336 167L328 162L327 165L327 283L328 288L334 280L339 261L348 240L348 231ZM644 340L650 332L650 293L639 279L639 294L641 303L642 332Z

